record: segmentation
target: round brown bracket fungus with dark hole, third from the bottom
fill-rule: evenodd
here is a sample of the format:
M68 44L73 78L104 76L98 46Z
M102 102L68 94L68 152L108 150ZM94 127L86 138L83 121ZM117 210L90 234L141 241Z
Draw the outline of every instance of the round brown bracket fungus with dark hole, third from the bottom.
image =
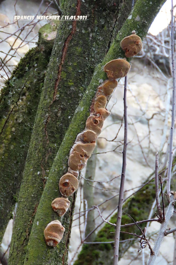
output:
M70 173L63 175L59 181L60 193L64 197L72 195L78 188L79 180Z

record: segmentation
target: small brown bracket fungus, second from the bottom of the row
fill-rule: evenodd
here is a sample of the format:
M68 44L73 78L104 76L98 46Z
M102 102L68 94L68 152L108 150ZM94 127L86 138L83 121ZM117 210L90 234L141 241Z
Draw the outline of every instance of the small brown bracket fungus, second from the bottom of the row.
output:
M70 207L70 201L68 198L56 198L51 203L51 207L53 208L53 211L59 214L59 216L63 216Z

